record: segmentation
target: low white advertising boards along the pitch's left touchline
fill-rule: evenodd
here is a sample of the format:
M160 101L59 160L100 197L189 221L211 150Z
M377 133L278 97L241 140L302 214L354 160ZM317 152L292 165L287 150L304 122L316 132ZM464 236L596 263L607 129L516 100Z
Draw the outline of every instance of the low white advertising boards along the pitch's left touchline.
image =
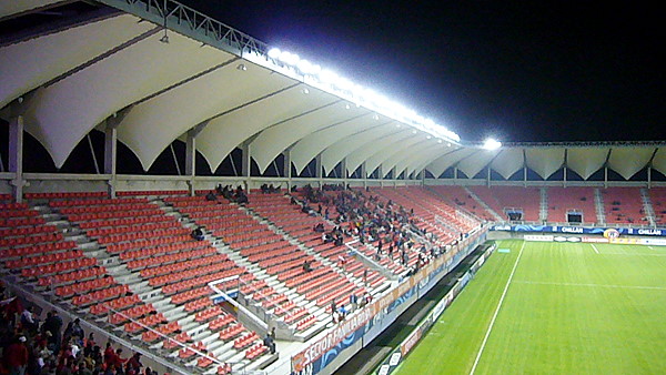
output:
M481 266L485 263L485 260L493 254L493 252L497 249L496 244L488 246L486 251L472 264L470 270L465 272L463 276L458 278L458 281L453 285L451 291L446 293L446 295L440 300L440 302L431 310L427 316L410 333L410 335L391 352L391 355L386 356L386 358L382 362L377 375L389 375L393 373L397 368L397 366L403 362L403 359L407 356L407 354L416 346L416 344L421 341L422 337L430 331L433 324L440 318L440 315L451 305L453 300L463 291L463 288L467 285L472 276L481 268Z

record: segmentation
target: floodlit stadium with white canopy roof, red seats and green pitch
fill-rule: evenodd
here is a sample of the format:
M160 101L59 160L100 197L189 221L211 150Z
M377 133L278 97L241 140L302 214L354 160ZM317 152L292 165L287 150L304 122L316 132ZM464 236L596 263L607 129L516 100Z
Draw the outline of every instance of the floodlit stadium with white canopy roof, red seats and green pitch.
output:
M175 1L0 3L3 372L666 372L666 143L471 142Z

